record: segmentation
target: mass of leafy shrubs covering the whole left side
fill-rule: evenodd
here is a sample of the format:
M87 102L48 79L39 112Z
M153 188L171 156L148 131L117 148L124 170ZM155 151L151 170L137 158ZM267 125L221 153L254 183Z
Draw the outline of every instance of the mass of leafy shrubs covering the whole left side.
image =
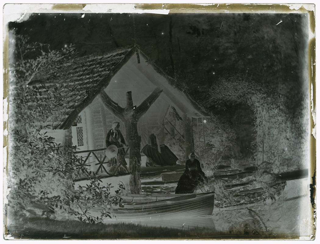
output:
M121 204L124 185L111 194L113 186L100 185L99 177L87 172L74 156L75 146L58 144L47 134L56 119L52 115L59 114L64 101L59 93L63 81L50 84L48 75L59 75L64 61L76 55L75 47L50 50L49 45L15 36L10 51L9 211L15 217L64 215L101 223L111 217L110 205ZM90 183L74 189L72 179L79 175ZM90 215L93 206L102 208L100 216Z

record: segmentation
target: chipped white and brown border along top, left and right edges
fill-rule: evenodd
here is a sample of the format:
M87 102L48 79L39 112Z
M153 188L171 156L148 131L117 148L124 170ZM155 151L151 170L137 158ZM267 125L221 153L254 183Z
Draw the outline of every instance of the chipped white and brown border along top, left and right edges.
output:
M217 6L216 6L217 5ZM245 9L240 10L234 5L241 5ZM258 5L258 6L257 6ZM154 7L154 9L149 9L149 7ZM178 8L173 8L173 7ZM187 8L184 8L187 6ZM190 8L192 6L192 8ZM258 9L250 9L250 6L257 6ZM264 7L270 6L269 9ZM271 6L274 8L271 9ZM9 194L10 189L7 187L7 164L8 164L8 23L10 21L22 22L28 20L32 13L154 13L154 14L169 14L169 12L194 12L194 13L208 13L208 12L224 12L224 13L236 13L236 12L255 12L255 13L281 13L287 12L284 11L284 6L289 8L288 12L290 13L309 13L309 57L311 56L311 65L309 63L309 69L311 70L311 75L309 75L309 91L310 91L310 117L312 121L310 122L312 136L310 140L310 182L312 184L312 170L315 169L315 113L316 113L316 102L314 97L314 87L315 87L315 76L313 75L313 60L315 50L310 50L314 48L314 38L315 30L314 23L315 19L315 5L314 4L5 4L3 7L3 21L4 21L4 192ZM170 8L171 7L171 8ZM259 10L260 9L260 10ZM312 14L313 12L313 14ZM83 16L84 17L84 16ZM281 21L279 22L281 23ZM278 23L278 24L279 24ZM311 185L310 184L310 185ZM8 203L7 198L4 198L4 209L5 205ZM313 209L312 215L314 216L315 209ZM314 216L315 220L315 216ZM4 219L5 221L5 219ZM315 226L315 224L314 224ZM10 238L10 236L6 236ZM314 235L311 235L309 239L314 238ZM10 238L11 239L11 238Z

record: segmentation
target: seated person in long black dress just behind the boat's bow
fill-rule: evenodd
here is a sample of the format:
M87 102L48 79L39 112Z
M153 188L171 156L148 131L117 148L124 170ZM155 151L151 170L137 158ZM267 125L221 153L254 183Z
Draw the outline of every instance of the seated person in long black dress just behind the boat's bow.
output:
M199 160L196 159L195 153L190 153L186 161L186 169L179 179L176 194L193 193L199 182L204 182L207 177L201 169Z

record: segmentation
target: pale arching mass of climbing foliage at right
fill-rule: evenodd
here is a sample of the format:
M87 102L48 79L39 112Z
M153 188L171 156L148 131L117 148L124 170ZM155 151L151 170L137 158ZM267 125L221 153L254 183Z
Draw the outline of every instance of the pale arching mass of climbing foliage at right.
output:
M232 94L232 96L227 96ZM300 101L294 114L286 106L288 98L272 88L256 86L250 77L228 77L212 85L208 104L225 107L243 103L254 112L256 164L269 161L275 172L302 167L306 158L308 135L307 95L297 95Z

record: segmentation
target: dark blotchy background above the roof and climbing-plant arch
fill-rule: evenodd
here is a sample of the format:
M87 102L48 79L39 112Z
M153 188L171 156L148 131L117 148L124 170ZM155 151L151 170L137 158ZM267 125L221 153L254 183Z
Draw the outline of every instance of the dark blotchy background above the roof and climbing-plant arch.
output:
M48 44L44 48L50 50L72 43L79 56L138 44L176 79L173 85L230 124L244 148L250 148L254 139L253 111L232 100L228 91L228 99L207 103L214 83L230 77L250 80L270 95L283 95L288 113L300 108L305 15L82 15L35 13L28 21L10 23L9 28L16 35L28 35L31 42Z

